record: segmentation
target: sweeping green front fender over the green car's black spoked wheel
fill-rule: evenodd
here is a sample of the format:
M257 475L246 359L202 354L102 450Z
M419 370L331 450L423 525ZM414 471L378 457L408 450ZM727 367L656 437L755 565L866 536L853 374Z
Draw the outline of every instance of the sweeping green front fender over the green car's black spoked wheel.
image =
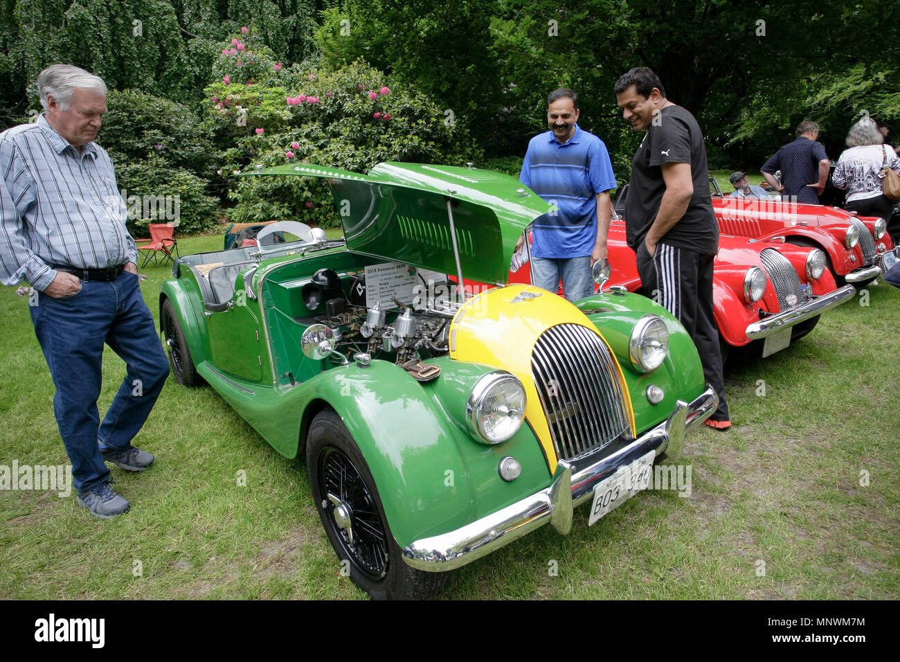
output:
M496 369L428 359L441 375L420 384L401 367L375 359L330 367L291 388L261 387L202 364L201 375L285 457L301 447L303 428L322 406L335 410L372 472L394 539L413 540L453 531L544 489L551 475L534 432L523 423L495 446L465 429L465 403L472 386ZM500 459L516 458L522 474L508 483Z

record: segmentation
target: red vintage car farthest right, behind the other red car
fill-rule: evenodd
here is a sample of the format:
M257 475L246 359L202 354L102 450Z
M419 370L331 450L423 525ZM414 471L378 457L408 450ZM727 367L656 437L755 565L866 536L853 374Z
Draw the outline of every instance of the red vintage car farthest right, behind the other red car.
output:
M894 264L900 252L887 234L886 219L856 216L823 204L725 196L716 179L709 181L721 231L761 240L783 237L797 246L822 249L839 285L871 282Z

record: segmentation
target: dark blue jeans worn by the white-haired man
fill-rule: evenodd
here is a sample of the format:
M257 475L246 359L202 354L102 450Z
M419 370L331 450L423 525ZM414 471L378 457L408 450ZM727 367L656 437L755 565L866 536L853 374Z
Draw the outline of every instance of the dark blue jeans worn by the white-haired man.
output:
M123 271L112 281L83 281L64 299L41 293L31 322L56 386L53 413L72 462L78 494L108 483L110 472L97 441L126 448L147 420L168 376L162 349L138 277ZM103 343L118 354L127 374L100 424Z

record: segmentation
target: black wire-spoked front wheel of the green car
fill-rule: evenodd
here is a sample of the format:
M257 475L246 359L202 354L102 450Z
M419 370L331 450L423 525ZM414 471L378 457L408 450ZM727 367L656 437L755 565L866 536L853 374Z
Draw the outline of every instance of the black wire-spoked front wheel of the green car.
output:
M312 420L306 466L322 525L354 584L374 600L420 600L443 587L446 573L417 570L403 562L369 467L347 427L329 409ZM329 494L338 499L343 513ZM342 514L343 525L338 524Z

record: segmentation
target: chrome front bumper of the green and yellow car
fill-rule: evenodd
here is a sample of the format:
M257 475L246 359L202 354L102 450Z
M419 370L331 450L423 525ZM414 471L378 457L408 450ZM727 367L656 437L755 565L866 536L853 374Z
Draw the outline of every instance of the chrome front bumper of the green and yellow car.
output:
M403 549L403 560L419 570L445 572L482 558L547 523L564 535L572 529L572 509L590 499L594 485L651 450L657 456L664 451L671 459L680 458L687 432L706 421L718 404L711 387L690 404L679 400L668 419L626 448L577 474L572 474L569 462L559 460L549 487L455 531L411 542Z

